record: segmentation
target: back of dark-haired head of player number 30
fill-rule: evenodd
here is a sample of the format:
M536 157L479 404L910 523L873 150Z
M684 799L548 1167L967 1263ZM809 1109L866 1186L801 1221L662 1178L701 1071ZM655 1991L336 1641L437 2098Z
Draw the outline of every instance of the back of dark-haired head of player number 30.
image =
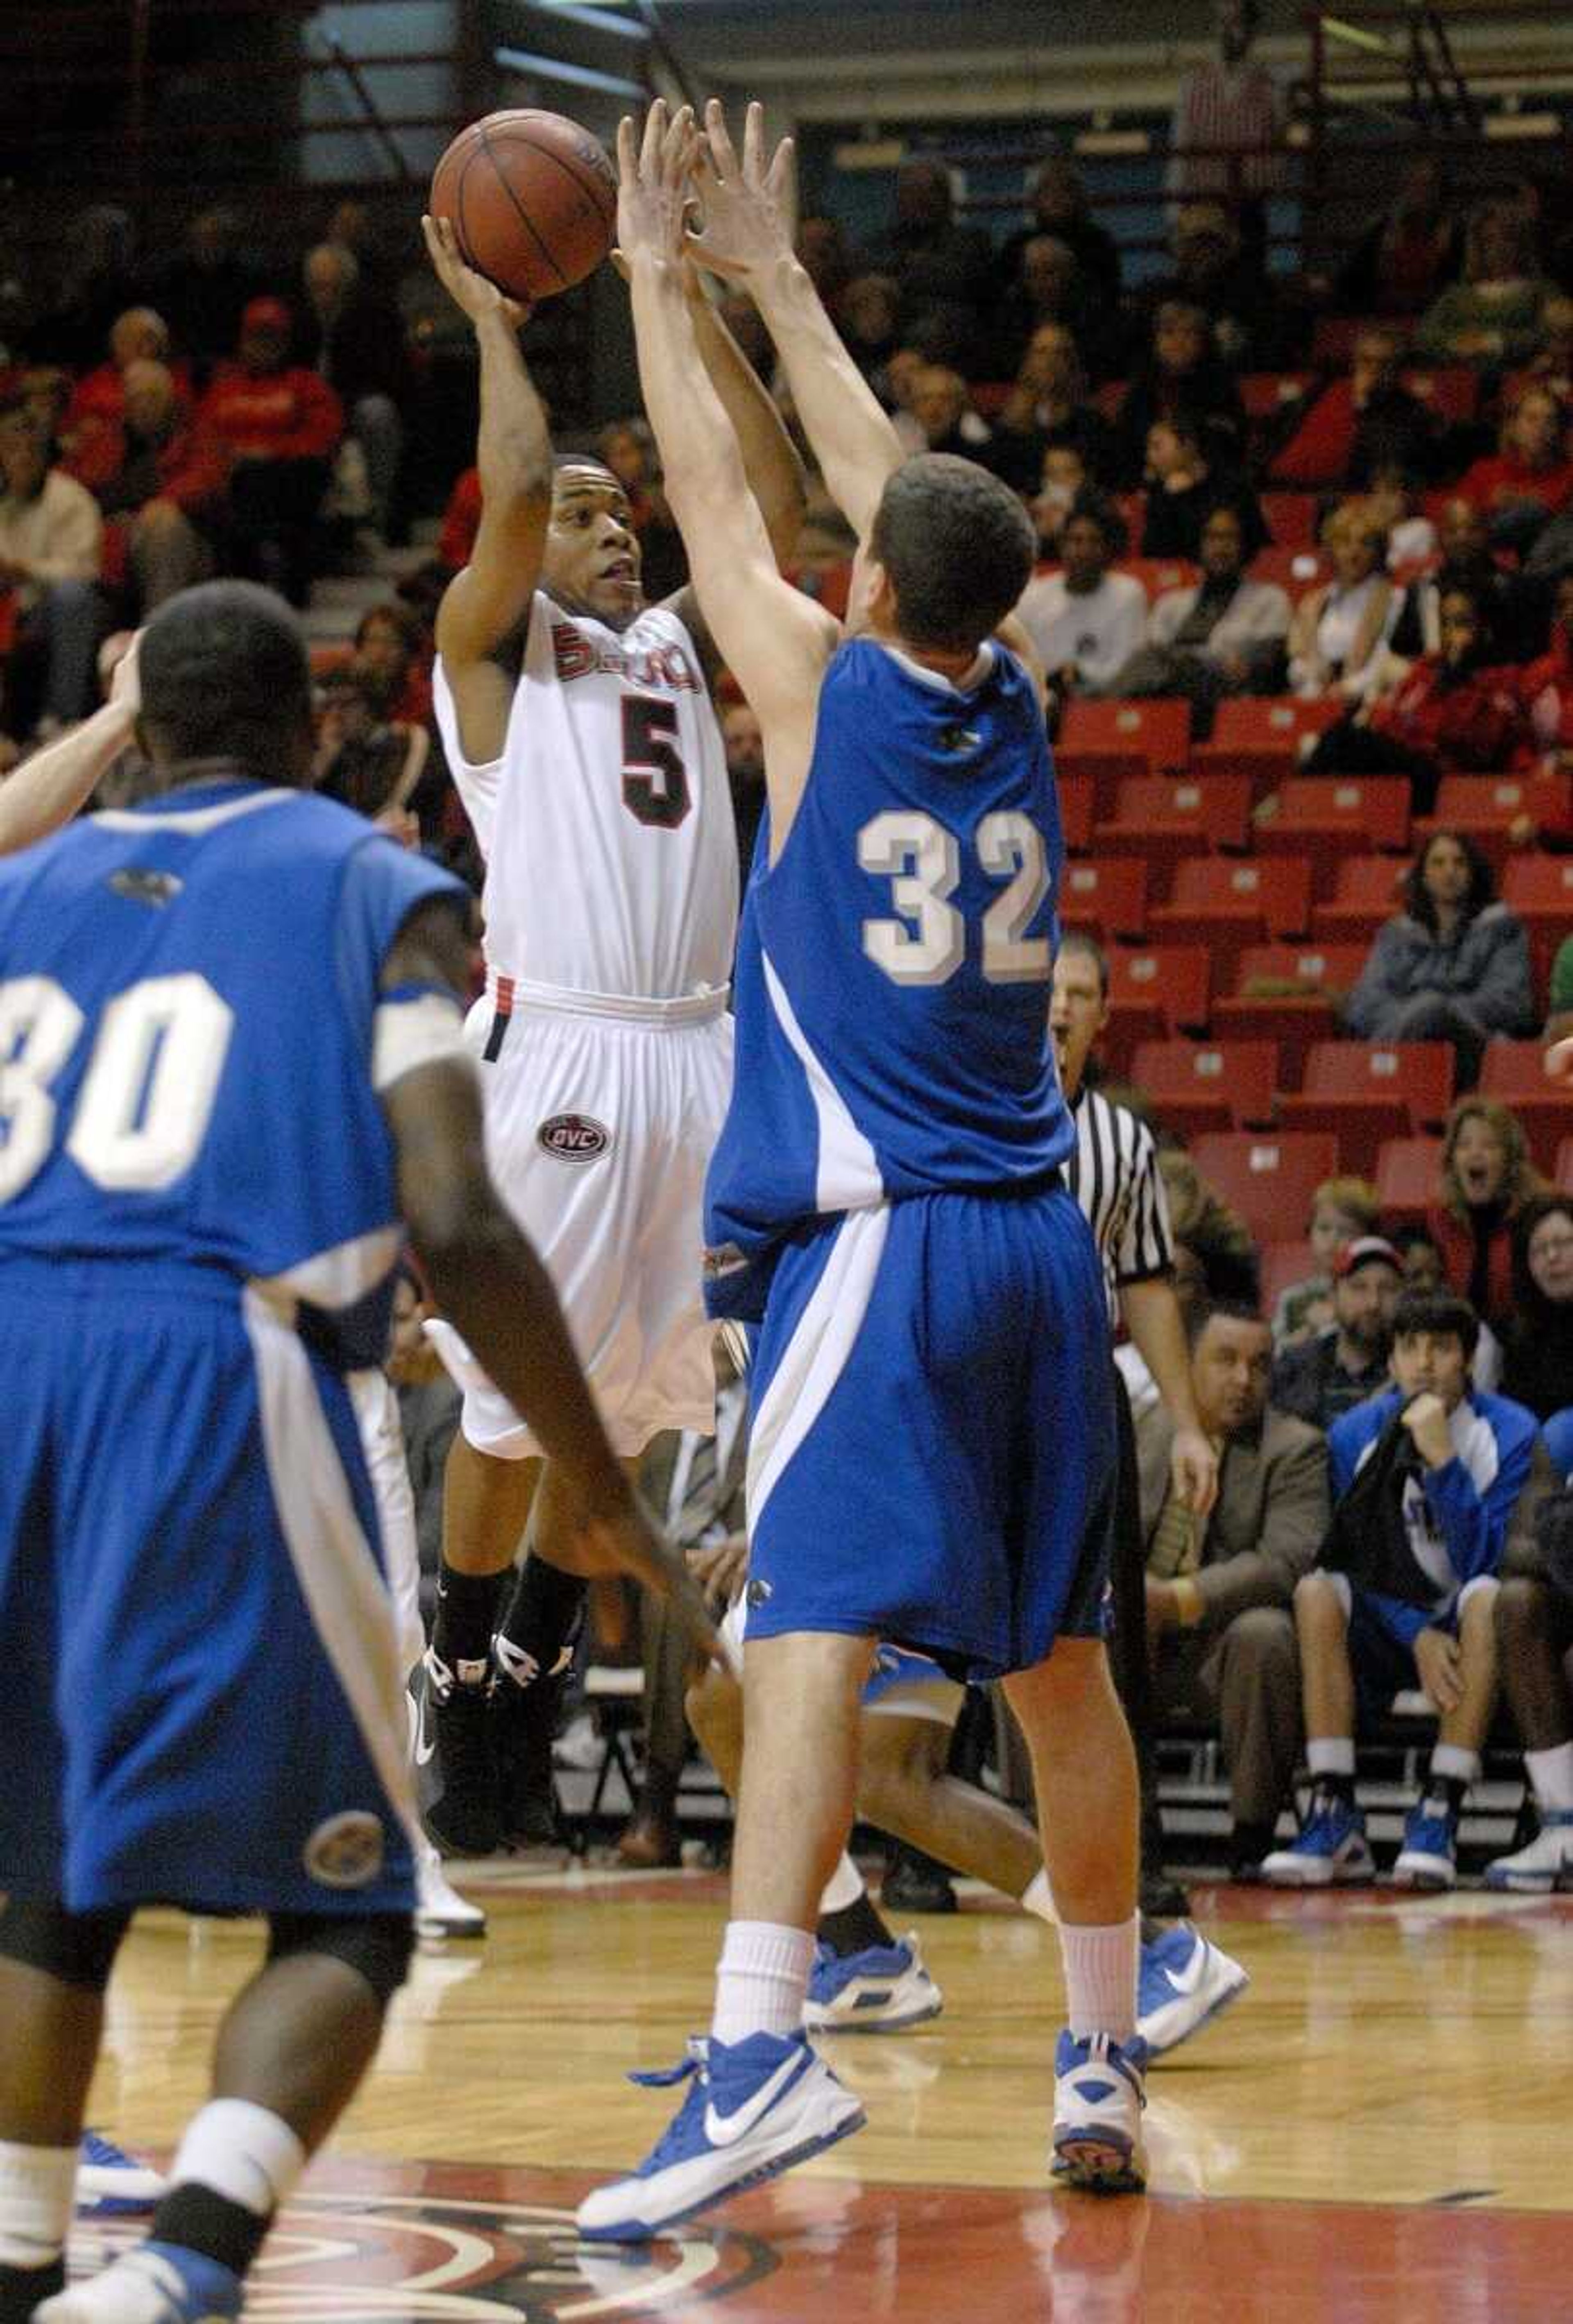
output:
M204 581L160 604L137 655L142 734L158 774L237 760L265 783L304 786L311 665L300 621L253 581Z

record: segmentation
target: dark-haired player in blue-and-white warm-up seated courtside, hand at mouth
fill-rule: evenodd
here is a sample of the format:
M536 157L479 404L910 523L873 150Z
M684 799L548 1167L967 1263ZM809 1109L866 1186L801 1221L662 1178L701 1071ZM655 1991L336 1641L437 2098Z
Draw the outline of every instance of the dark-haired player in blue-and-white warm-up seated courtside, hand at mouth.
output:
M1315 1792L1294 1845L1262 1864L1273 1885L1376 1875L1355 1806L1357 1720L1413 1687L1438 1710L1438 1741L1392 1878L1415 1889L1457 1880L1459 1810L1496 1703L1496 1573L1536 1443L1522 1404L1471 1390L1475 1329L1466 1299L1406 1292L1392 1392L1329 1432L1334 1522L1294 1592Z

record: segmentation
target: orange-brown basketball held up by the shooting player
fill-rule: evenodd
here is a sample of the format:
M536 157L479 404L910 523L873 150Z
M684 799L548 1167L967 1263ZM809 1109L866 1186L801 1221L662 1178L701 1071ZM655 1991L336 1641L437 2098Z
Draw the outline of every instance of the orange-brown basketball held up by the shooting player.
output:
M460 130L432 172L430 209L460 258L509 297L572 290L611 249L618 179L576 121L530 107Z

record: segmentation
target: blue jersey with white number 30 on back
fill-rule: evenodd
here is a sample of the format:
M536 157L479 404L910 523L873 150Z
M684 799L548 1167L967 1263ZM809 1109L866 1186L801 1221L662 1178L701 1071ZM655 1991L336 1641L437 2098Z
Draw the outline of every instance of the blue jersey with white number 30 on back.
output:
M144 1260L323 1311L400 1248L379 978L448 874L244 779L0 862L0 1267ZM367 1346L344 1360L381 1360Z

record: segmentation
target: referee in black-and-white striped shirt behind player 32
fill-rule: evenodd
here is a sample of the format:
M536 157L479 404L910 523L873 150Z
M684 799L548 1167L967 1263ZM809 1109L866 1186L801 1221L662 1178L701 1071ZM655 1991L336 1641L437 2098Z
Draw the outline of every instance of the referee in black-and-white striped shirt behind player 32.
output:
M1190 1387L1190 1350L1173 1294L1169 1204L1152 1132L1129 1106L1085 1085L1087 1057L1108 1023L1108 962L1092 937L1071 930L1055 960L1048 1027L1060 1085L1076 1118L1076 1153L1064 1164L1104 1262L1111 1348L1120 1322L1136 1341L1159 1397L1173 1415L1173 1490L1206 1518L1218 1492L1218 1455L1201 1432ZM1125 1380L1115 1369L1120 1478L1115 1490L1111 1664L1141 1769L1143 1910L1183 1913L1185 1899L1164 1882L1157 1769L1152 1757L1152 1676L1148 1666L1145 1555L1136 1487L1136 1436Z

